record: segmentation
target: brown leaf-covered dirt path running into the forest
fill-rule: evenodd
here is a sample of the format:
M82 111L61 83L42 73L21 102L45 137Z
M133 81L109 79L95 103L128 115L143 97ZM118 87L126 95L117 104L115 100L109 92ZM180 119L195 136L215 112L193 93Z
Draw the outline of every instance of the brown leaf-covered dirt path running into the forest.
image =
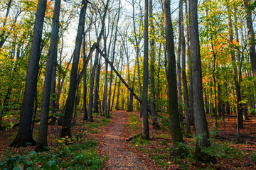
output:
M126 111L113 111L112 122L103 133L102 155L107 154L104 169L147 169L135 154L124 149L121 137L125 124L128 123Z

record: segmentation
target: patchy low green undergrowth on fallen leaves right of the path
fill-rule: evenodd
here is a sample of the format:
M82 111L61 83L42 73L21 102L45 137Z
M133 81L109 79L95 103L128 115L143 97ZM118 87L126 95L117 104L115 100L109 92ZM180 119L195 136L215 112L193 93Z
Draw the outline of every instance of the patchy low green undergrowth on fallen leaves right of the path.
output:
M164 118L164 117L163 117ZM136 130L138 127L141 126L141 123L138 121L136 115L129 114L129 125L128 128L131 131ZM167 124L161 124L161 128L163 126L167 126ZM164 130L169 129L165 127ZM169 131L166 131L168 133ZM210 129L210 147L208 148L201 148L203 153L206 153L210 157L221 158L223 160L228 159L245 159L245 154L240 150L232 146L232 142L217 142L215 137L218 135L219 130L216 128ZM156 132L159 134L159 132ZM174 151L173 147L171 146L170 142L167 139L167 135L161 132L156 137L160 136L162 140L142 140L141 137L134 138L130 144L132 147L139 149L139 151L148 154L151 159L154 160L154 163L157 164L159 167L168 169L168 167L173 164L182 169L191 169L193 168L194 164L198 162L198 159L195 154L196 150L196 141L200 140L201 136L191 135L189 140L186 140L186 143L180 142L178 147L182 147L182 150L186 152L181 154L180 157L174 157L171 153ZM166 140L165 140L166 139ZM150 146L153 144L154 146ZM256 162L256 154L252 155L252 161ZM204 164L203 168L210 168L213 162L201 162Z

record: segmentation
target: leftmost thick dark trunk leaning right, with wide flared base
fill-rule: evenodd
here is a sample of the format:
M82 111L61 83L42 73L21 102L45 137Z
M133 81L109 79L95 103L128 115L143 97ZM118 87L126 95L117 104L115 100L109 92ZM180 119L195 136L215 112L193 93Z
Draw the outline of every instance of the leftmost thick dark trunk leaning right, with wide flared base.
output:
M25 92L21 106L21 118L18 126L16 138L11 143L11 147L25 147L26 145L36 145L32 137L32 115L38 76L38 64L41 56L41 38L43 33L43 21L46 12L46 0L38 0L36 10L36 21L33 29L31 42L31 52L28 60L28 70L26 75Z

